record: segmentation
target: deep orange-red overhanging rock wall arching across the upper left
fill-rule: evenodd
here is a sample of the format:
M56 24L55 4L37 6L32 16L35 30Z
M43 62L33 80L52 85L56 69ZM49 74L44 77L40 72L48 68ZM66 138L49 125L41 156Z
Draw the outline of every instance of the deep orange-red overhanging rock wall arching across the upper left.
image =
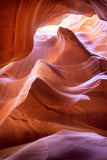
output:
M77 5L78 4L78 5ZM72 7L73 6L73 7ZM82 7L84 10L82 10ZM85 8L88 9L85 9ZM0 1L0 67L27 56L33 47L33 35L45 25L65 13L92 15L94 10L85 0L3 0ZM4 21L5 20L5 21ZM6 48L6 49L5 49Z

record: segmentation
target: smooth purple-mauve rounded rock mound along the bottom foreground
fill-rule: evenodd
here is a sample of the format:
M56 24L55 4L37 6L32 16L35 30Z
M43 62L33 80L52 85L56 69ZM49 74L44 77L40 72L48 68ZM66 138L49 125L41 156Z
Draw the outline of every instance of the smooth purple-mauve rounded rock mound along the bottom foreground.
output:
M103 144L103 145L102 145ZM5 160L56 160L56 159L102 159L107 158L107 139L93 133L63 130L25 146L2 150ZM7 152L6 155L4 153ZM41 154L40 154L41 153ZM6 158L8 156L8 158Z

